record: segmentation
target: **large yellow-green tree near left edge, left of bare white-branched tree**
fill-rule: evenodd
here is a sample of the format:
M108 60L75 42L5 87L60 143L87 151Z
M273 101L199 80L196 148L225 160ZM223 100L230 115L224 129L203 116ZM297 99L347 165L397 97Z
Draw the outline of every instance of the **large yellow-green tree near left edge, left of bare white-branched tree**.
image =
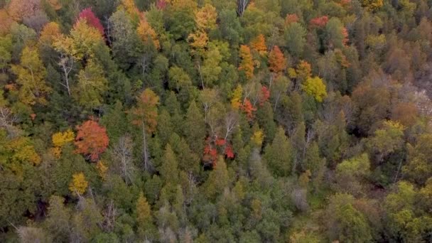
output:
M12 72L18 77L20 85L18 97L24 104L46 104L46 95L52 89L46 85L46 70L39 57L38 50L26 46L21 53L21 63L12 65Z

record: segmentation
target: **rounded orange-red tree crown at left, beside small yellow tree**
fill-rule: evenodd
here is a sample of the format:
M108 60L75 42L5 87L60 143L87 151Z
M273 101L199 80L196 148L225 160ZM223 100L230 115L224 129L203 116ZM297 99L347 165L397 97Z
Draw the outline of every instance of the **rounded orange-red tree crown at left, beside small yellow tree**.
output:
M97 161L109 144L107 129L99 126L96 121L85 121L77 126L77 137L75 138L75 152L89 156L90 160Z

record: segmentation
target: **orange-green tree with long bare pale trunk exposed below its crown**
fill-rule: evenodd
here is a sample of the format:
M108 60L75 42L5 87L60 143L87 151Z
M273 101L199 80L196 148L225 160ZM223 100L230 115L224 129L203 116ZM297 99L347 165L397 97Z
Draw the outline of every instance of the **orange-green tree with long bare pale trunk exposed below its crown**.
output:
M144 169L149 170L151 164L149 161L146 134L152 134L153 131L156 131L159 97L152 90L146 89L141 92L141 95L137 97L137 99L138 103L136 107L131 110L131 114L134 117L132 123L136 126L141 126L143 134Z

